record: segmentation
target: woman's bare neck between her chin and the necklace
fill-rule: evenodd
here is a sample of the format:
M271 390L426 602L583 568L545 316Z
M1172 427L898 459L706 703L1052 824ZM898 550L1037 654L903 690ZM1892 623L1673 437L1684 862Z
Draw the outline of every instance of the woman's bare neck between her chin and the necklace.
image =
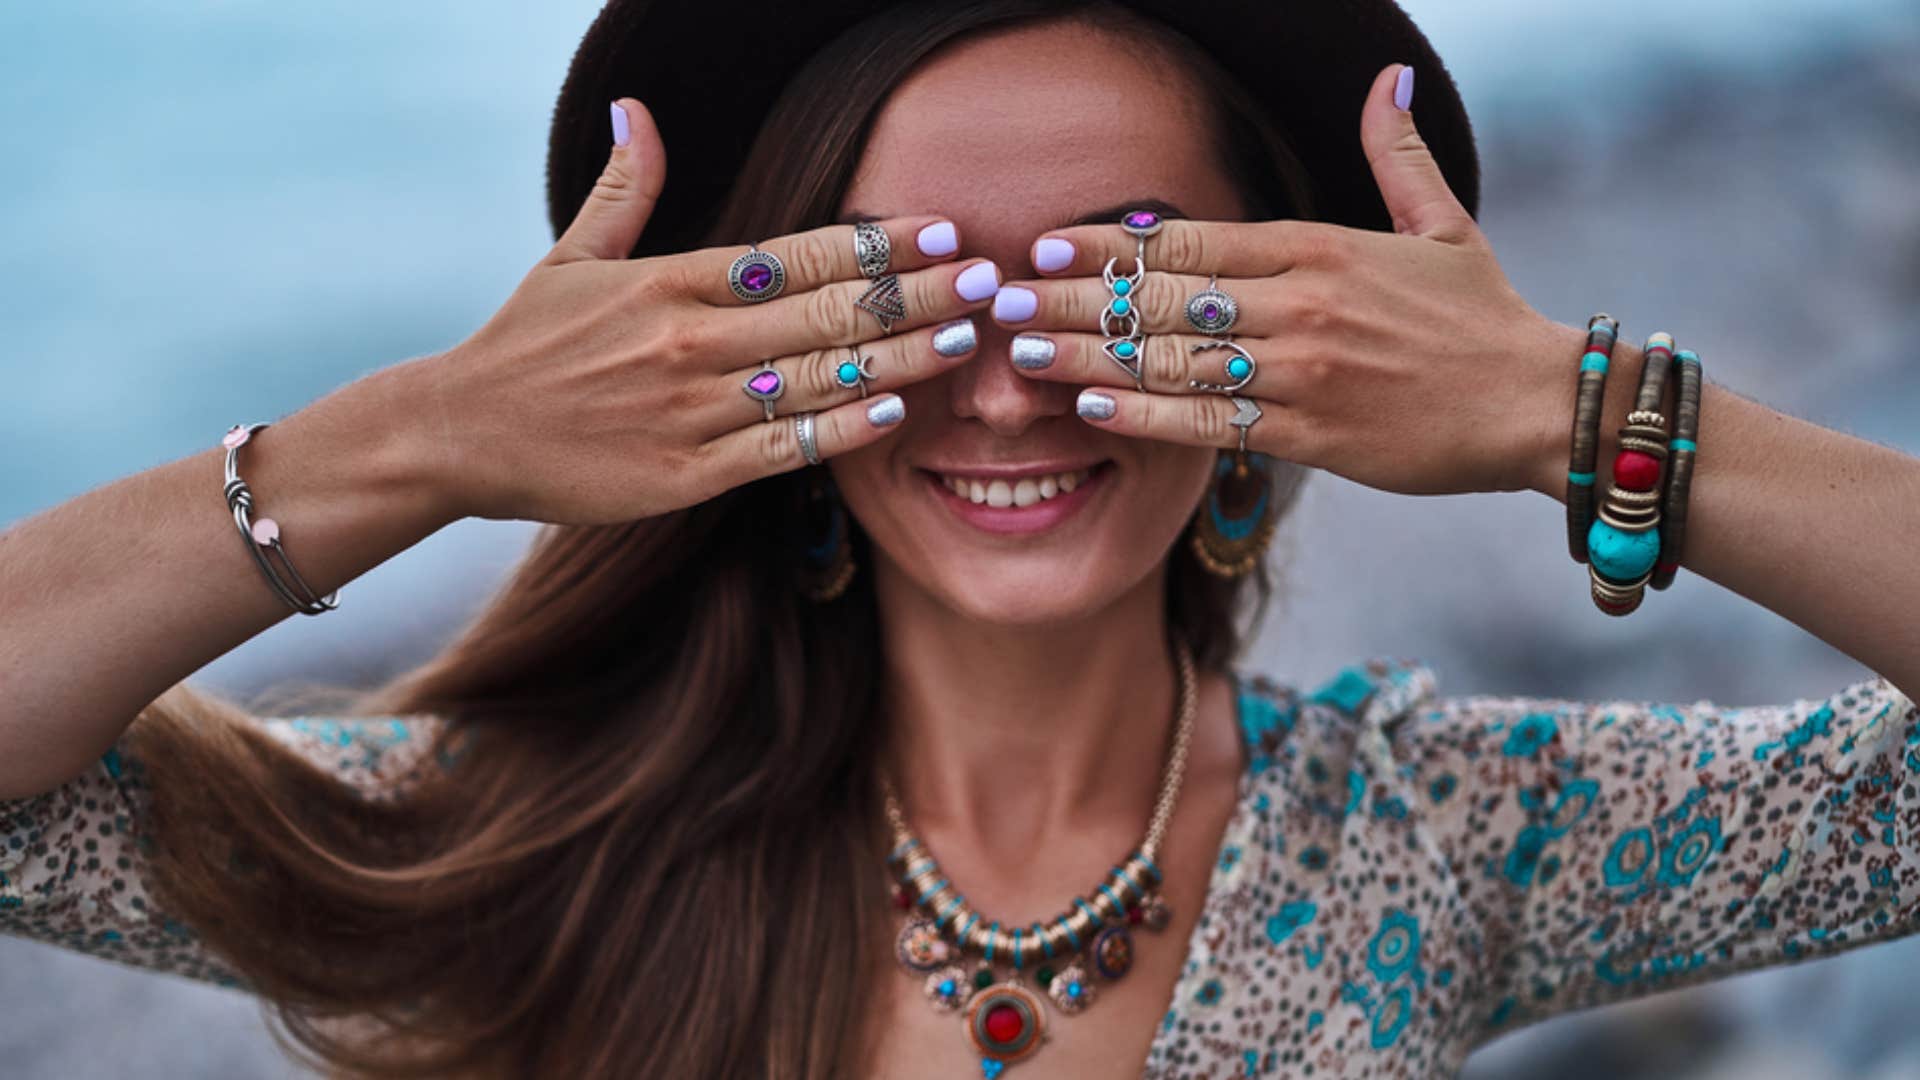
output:
M1096 846L1139 844L1173 734L1177 676L1164 569L1062 625L981 625L881 573L885 767L943 863L1010 876Z

